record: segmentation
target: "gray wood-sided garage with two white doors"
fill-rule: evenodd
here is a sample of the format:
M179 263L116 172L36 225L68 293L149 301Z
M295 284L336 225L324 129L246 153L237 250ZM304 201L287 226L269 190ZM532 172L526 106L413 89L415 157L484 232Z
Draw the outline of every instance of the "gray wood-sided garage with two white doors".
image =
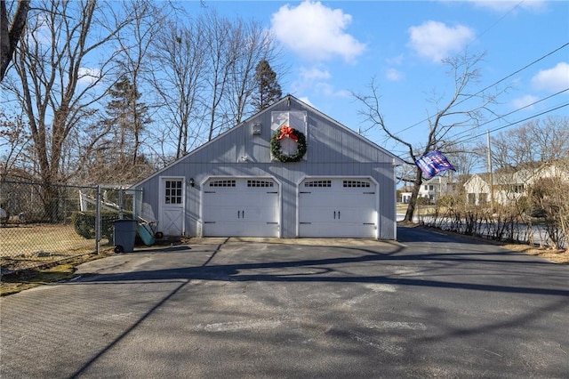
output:
M297 161L270 147L283 126L306 139ZM290 135L278 143L299 156ZM403 163L287 95L132 186L142 190L135 211L170 236L395 239Z

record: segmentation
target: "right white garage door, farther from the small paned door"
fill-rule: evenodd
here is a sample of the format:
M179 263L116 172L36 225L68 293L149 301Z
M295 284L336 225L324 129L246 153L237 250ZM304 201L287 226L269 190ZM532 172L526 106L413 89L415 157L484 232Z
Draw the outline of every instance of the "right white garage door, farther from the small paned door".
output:
M300 237L376 238L377 189L369 179L305 179Z

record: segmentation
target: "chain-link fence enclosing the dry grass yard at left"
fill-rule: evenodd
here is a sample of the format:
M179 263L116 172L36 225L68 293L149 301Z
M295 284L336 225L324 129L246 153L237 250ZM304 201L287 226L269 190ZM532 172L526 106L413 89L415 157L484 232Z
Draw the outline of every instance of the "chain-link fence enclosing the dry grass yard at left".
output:
M0 181L2 274L113 246L113 221L136 218L137 192Z

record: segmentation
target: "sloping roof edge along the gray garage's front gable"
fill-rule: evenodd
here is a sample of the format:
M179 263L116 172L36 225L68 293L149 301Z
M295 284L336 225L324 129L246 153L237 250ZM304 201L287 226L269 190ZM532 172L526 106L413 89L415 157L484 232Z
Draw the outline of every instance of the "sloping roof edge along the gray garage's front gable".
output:
M260 110L260 112L252 115L251 117L248 117L247 119L245 119L244 121L242 121L240 124L228 129L228 131L224 132L224 133L220 133L218 136L216 136L215 138L213 138L211 141L207 141L205 142L203 145L197 147L196 149L193 149L192 151L190 151L187 155L185 155L184 157L180 157L178 159L176 159L175 161L173 161L170 165L165 166L164 168L156 171L156 173L152 173L151 175L149 175L147 178L143 179L142 181L137 182L136 184L132 185L132 188L138 187L141 184L143 184L146 181L149 181L150 179L156 177L157 175L163 173L164 171L168 170L169 168L171 168L173 165L178 165L180 164L180 162L183 162L187 159L191 159L191 157L195 156L196 154L198 154L199 152L203 151L204 149L208 149L210 146L212 146L213 144L215 144L216 142L220 141L223 138L227 138L228 135L230 133L238 133L239 129L243 128L243 127L247 127L247 125L249 125L249 123L251 123L252 121L254 121L256 118L258 118L261 114L263 113L267 113L267 112L271 112L275 109L281 109L282 104L284 104L284 102L288 102L290 103L291 101L296 102L297 104L299 104L301 106L301 108L307 109L309 112L312 112L314 114L316 114L318 117L322 117L325 120L327 120L329 123L335 125L336 127L340 128L343 132L345 133L350 133L352 134L355 138L359 139L360 141L364 141L366 144L368 144L370 147L372 147L373 149L377 149L379 150L382 154L385 154L388 157L391 157L394 160L394 164L395 165L404 165L405 162L403 161L403 159L401 159L400 157L397 157L396 155L392 154L391 152L389 152L386 149L381 148L381 146L375 144L373 141L368 140L367 138L365 138L364 136L354 132L353 130L349 129L349 127L342 125L341 123L339 123L338 121L334 120L332 117L328 117L327 115L325 115L324 113L320 112L319 110L315 109L314 107L310 106L309 104L295 98L293 95L288 94L286 96L284 96L282 99L280 99L279 101L276 101L275 103L271 104L270 106L268 106L267 109L262 109Z

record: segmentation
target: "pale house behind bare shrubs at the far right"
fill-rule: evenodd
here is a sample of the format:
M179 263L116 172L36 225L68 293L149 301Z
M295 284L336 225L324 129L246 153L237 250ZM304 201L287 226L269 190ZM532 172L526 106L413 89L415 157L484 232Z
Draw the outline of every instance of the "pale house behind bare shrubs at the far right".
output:
M493 201L501 205L517 202L527 195L527 189L542 178L559 177L569 182L569 172L561 165L541 165L536 169L522 169L512 173L475 173L464 183L469 205L483 206ZM490 187L492 182L493 192Z

